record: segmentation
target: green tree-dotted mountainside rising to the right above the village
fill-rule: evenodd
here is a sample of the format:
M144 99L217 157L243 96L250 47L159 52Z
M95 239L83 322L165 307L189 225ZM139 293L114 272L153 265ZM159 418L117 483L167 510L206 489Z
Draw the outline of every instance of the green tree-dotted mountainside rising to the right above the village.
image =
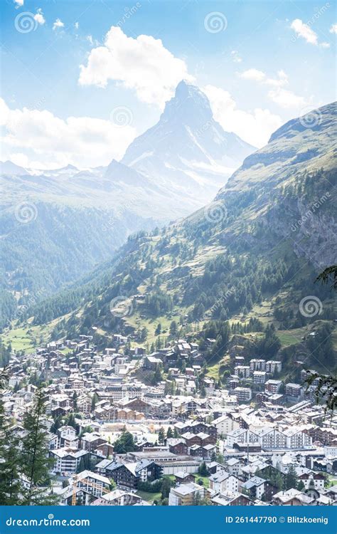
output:
M262 173L252 169L254 182L248 157L211 204L166 229L129 239L114 263L74 288L71 302L63 293L28 315L38 324L46 312L53 318L77 308L60 323L58 335L92 327L101 334L118 328L138 335L146 327L149 342L156 340L159 322L168 335L173 318L181 323L180 335L198 332L209 320L245 325L259 319L274 324L284 345L293 340L279 355L289 372L296 354L314 368L333 369L333 295L314 280L321 268L336 263L336 103L320 113L319 129L296 134L298 152L309 145L315 159L284 158L289 127L283 127L256 153L254 166ZM291 129L297 125L295 120ZM262 162L270 151L278 170L268 174ZM115 313L116 302L123 313ZM324 340L314 348L302 339L313 328Z

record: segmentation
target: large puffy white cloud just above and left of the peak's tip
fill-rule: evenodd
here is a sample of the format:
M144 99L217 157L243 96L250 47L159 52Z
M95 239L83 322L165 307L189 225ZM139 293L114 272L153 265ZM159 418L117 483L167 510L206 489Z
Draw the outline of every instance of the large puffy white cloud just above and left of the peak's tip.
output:
M80 66L79 83L105 88L109 80L114 80L134 90L141 102L162 109L182 79L192 80L186 63L173 56L161 39L127 37L121 28L112 26L105 45L93 48L87 66Z

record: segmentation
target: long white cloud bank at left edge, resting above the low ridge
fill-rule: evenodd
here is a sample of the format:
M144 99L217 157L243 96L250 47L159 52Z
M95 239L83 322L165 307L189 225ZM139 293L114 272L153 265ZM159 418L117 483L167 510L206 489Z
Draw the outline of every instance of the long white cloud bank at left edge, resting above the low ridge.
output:
M136 136L131 125L116 127L109 120L92 117L68 117L63 120L47 110L11 110L0 98L0 124L4 126L1 141L2 159L41 168L95 167L120 159Z

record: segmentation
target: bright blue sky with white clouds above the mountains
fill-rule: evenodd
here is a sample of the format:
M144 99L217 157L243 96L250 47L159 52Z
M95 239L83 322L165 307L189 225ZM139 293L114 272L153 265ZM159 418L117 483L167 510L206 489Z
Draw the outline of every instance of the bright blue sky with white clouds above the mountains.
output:
M17 164L118 159L181 78L205 90L225 130L259 147L291 117L336 99L332 1L1 6L1 159Z

